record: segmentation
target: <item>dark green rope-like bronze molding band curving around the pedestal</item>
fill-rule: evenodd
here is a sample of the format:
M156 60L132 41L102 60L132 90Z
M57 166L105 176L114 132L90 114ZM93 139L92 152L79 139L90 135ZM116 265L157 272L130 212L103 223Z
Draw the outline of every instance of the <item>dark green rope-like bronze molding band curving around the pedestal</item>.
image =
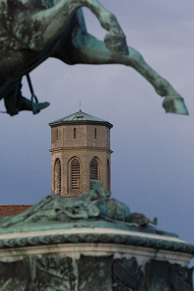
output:
M194 245L120 234L63 234L0 240L0 248L51 245L57 243L115 243L162 249L194 255Z

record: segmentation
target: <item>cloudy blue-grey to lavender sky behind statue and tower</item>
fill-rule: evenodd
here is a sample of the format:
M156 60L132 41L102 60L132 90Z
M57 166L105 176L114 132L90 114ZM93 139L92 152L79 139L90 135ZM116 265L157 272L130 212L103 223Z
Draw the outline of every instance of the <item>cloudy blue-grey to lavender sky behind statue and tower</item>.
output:
M51 194L49 122L81 109L112 123L112 196L158 228L194 243L194 1L102 0L146 62L185 99L189 116L167 114L162 98L123 65L66 65L48 59L31 73L33 115L0 114L0 204L34 204ZM88 31L105 31L86 8ZM23 95L30 92L23 78ZM4 110L1 100L0 110Z

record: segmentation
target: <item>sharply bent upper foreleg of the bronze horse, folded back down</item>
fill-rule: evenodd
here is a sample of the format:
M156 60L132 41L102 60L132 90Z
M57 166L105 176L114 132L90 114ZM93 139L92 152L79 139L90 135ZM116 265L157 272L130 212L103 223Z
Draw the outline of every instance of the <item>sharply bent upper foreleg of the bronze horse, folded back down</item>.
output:
M116 17L106 10L98 0L61 0L52 8L34 13L30 19L32 37L27 39L30 49L43 50L63 32L70 18L80 7L88 7L99 19L101 26L108 31L106 47L128 55L125 35Z

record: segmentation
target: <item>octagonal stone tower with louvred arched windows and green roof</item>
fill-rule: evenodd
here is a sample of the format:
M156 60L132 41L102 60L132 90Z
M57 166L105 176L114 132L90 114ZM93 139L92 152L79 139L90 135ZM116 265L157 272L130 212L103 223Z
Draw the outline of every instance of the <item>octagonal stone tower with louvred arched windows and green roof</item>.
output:
M51 191L61 197L87 194L90 179L111 185L110 130L106 120L79 110L49 123L51 127Z

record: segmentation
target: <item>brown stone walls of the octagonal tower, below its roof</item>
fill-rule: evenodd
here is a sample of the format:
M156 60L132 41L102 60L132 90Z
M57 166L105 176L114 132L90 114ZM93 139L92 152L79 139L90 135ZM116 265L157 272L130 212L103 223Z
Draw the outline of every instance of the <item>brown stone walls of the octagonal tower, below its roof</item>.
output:
M76 138L74 138L76 129ZM96 136L95 136L96 129ZM110 190L110 129L103 125L60 125L51 128L51 192L63 197L77 197L90 191L90 164L98 163L97 178L102 181L106 191ZM61 162L61 193L55 187L55 162ZM71 162L80 163L80 191L71 187ZM109 170L107 167L109 163Z

